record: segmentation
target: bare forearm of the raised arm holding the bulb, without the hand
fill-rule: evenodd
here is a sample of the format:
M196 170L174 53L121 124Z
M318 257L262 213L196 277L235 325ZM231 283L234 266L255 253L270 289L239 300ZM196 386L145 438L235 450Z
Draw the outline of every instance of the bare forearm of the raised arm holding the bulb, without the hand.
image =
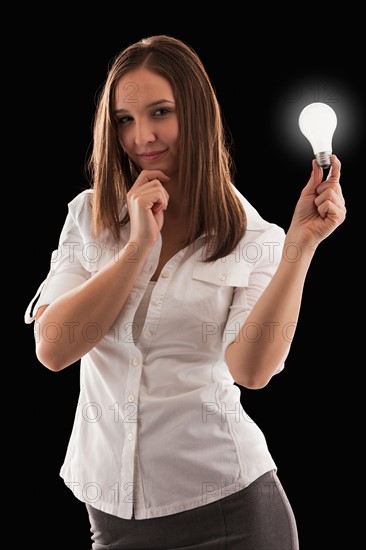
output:
M292 245L294 242L298 244ZM294 251L296 255L291 253ZM313 255L310 243L300 245L294 235L287 235L276 273L226 352L228 367L238 384L264 387L286 359Z

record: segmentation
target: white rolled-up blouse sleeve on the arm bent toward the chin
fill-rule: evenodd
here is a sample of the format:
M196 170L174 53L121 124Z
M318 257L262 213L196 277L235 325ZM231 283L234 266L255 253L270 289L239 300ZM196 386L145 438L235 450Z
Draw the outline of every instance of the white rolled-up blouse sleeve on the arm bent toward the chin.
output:
M91 215L87 212L90 192L82 192L68 205L58 248L52 252L50 269L28 304L24 320L30 324L40 306L52 303L69 290L77 287L91 276L84 260L85 227L90 226ZM89 205L89 208L91 205ZM88 221L87 221L87 219ZM80 221L83 222L81 225Z

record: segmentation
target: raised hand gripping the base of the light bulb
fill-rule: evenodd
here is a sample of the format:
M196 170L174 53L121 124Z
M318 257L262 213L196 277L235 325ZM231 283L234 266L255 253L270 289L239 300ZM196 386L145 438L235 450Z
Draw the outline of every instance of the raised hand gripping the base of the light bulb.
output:
M345 201L339 183L341 163L331 156L328 177L322 181L323 170L314 159L312 173L296 204L289 232L301 241L320 243L346 217Z

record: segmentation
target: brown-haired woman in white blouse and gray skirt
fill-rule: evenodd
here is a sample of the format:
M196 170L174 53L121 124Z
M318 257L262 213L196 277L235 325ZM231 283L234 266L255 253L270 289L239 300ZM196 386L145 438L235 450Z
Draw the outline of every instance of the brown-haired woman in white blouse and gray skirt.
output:
M340 162L313 161L284 230L236 189L220 108L187 44L115 57L91 187L70 203L26 312L36 353L81 359L61 476L93 549L296 549L264 435L240 403L284 367L318 244L345 219ZM284 337L286 335L286 337Z

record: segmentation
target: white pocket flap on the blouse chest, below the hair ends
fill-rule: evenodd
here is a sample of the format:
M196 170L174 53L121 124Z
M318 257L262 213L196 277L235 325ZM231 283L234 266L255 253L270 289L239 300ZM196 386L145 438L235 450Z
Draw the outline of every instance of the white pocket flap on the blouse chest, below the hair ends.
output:
M212 263L197 262L192 279L219 286L247 287L250 272L245 262L237 262L235 256L230 255Z

